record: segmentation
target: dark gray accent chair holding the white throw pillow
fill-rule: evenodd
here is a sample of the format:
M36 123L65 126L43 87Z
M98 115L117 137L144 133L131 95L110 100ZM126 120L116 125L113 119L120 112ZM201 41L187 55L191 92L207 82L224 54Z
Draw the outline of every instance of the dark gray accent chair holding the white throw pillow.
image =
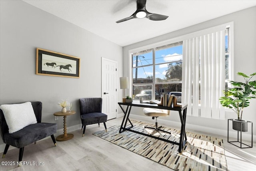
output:
M54 145L56 146L56 141L54 138L54 133L57 132L57 124L56 123L41 123L42 117L42 102L33 101L32 107L34 109L34 113L36 115L37 123L28 125L19 131L14 133L9 133L9 128L4 118L4 113L0 109L0 128L1 128L1 136L6 143L4 153L2 158L5 157L8 148L10 145L13 147L19 148L19 161L22 161L24 147L31 143L36 143L36 141L43 139L45 137L51 136ZM18 114L18 113L17 113Z

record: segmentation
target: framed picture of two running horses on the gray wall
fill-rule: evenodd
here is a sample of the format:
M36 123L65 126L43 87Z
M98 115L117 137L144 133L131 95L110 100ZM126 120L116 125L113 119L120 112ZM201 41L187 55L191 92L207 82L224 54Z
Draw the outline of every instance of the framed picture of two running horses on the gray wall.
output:
M36 74L79 78L80 58L36 48Z

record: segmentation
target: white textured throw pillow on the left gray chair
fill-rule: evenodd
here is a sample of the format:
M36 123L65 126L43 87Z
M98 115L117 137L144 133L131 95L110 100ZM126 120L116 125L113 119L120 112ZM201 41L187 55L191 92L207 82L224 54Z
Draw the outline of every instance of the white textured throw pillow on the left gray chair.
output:
M0 105L0 109L4 113L9 133L14 133L28 125L37 123L31 102Z

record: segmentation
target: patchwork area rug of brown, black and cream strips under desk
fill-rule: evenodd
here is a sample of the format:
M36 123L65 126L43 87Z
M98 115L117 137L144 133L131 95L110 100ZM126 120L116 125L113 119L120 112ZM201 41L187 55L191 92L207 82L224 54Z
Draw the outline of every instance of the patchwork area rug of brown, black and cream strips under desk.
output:
M132 129L148 134L150 134L152 130L145 129L144 126L155 126L154 124L140 121L131 120L131 122L134 125ZM128 126L130 125L126 127ZM116 125L108 128L108 132L102 130L93 133L93 135L177 171L228 170L222 139L186 132L188 140L182 153L178 153L178 145L131 131L119 133L119 129L120 126ZM167 127L162 127L161 129L170 131L172 135L166 133L155 133L154 135L179 142L180 130Z

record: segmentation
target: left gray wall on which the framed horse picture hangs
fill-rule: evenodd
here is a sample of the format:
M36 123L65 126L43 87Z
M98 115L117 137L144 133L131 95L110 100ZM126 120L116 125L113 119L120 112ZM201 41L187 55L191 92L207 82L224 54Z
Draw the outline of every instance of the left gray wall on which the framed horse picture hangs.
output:
M80 58L80 78L36 75L36 48ZM0 104L42 101L42 122L62 129L63 118L55 121L53 113L68 99L77 113L67 126L80 124L78 99L102 96L101 57L117 61L122 76L121 46L26 2L0 1ZM121 90L118 95L121 101Z

